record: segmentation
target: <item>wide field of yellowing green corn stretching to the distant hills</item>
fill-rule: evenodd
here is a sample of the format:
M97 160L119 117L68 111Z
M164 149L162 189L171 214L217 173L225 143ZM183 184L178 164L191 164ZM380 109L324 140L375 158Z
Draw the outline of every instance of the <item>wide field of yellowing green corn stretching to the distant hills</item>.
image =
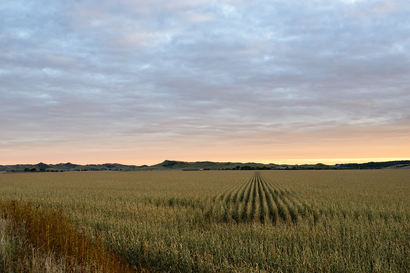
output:
M2 200L60 210L151 272L408 272L410 171L0 175Z

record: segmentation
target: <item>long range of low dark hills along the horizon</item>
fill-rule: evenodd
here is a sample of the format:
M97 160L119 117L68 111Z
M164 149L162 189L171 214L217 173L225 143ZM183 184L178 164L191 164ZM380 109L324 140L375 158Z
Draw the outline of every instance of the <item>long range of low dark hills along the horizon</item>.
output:
M410 160L386 161L386 162L367 162L367 163L346 163L337 165L325 164L304 164L304 165L287 165L287 164L262 164L255 162L212 162L196 161L186 162L178 160L165 160L155 165L124 165L120 163L105 164L88 164L77 165L70 162L59 164L17 164L17 165L0 165L0 171L161 171L161 170L225 170L225 169L410 169Z

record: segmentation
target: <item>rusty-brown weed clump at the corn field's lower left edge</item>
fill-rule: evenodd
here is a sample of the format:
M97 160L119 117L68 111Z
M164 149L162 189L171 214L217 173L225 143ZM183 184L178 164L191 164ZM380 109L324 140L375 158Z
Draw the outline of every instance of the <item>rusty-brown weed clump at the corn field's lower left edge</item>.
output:
M13 255L3 257L4 272L37 272L39 266L34 260L39 257L45 257L48 263L57 261L62 272L135 272L123 257L107 250L98 237L91 240L75 228L61 209L3 200L0 213L15 239L11 244L15 249L9 251Z

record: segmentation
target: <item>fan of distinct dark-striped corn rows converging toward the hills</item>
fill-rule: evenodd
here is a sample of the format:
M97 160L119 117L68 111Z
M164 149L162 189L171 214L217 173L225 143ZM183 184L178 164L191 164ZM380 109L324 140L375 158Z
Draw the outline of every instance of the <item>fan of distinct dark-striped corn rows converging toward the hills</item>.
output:
M317 219L318 214L310 205L292 196L280 185L274 185L258 171L239 187L210 198L204 209L207 218L237 223L297 223L301 217L310 214Z

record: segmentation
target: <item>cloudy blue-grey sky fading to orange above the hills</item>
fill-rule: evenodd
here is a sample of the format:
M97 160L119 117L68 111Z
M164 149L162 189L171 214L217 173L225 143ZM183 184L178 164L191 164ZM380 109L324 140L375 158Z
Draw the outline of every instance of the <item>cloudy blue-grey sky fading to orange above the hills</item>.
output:
M5 0L0 164L410 159L410 2Z

